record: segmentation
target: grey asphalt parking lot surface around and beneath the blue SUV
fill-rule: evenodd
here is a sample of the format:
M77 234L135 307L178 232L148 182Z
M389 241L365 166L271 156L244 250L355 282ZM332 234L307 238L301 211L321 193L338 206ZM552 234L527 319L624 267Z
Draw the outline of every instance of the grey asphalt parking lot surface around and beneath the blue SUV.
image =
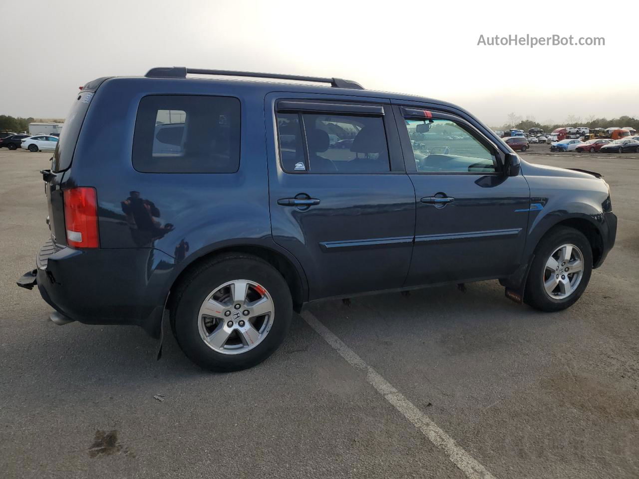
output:
M521 156L612 187L617 244L574 307L496 281L323 301L265 363L210 374L170 334L156 361L140 329L56 326L15 285L49 234L50 154L0 149L0 477L636 478L639 155Z

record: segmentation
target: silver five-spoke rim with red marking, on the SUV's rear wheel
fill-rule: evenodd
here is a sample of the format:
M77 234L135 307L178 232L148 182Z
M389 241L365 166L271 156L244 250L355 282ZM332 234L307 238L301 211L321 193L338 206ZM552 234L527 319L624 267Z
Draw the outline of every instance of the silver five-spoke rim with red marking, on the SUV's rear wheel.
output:
M233 280L206 296L197 323L206 346L222 354L242 354L264 340L274 316L273 299L265 287Z

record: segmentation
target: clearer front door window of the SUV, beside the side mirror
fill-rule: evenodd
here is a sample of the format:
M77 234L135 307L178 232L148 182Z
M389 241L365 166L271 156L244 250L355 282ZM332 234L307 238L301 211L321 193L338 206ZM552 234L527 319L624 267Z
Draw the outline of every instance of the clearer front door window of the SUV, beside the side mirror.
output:
M448 119L405 119L418 172L496 172L495 155ZM512 138L514 143L523 139Z

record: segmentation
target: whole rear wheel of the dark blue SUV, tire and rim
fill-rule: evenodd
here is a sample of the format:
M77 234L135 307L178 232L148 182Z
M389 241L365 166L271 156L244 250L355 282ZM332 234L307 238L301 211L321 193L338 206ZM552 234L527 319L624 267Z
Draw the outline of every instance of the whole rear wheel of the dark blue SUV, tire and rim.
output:
M244 254L216 257L176 291L171 323L182 351L212 371L247 369L270 356L288 332L288 284L268 262Z

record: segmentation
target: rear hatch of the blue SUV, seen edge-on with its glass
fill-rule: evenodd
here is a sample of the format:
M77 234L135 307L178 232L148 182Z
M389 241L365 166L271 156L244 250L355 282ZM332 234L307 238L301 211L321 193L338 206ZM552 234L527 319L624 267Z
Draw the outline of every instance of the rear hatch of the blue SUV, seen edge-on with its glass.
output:
M65 181L65 174L71 167L73 152L84 123L84 117L91 104L94 92L83 89L73 102L73 106L65 119L58 146L54 152L51 169L42 170L45 181L45 194L49 205L49 229L52 243L56 246L66 245L65 206L61 186ZM55 248L57 249L57 248ZM54 250L51 251L53 253Z

